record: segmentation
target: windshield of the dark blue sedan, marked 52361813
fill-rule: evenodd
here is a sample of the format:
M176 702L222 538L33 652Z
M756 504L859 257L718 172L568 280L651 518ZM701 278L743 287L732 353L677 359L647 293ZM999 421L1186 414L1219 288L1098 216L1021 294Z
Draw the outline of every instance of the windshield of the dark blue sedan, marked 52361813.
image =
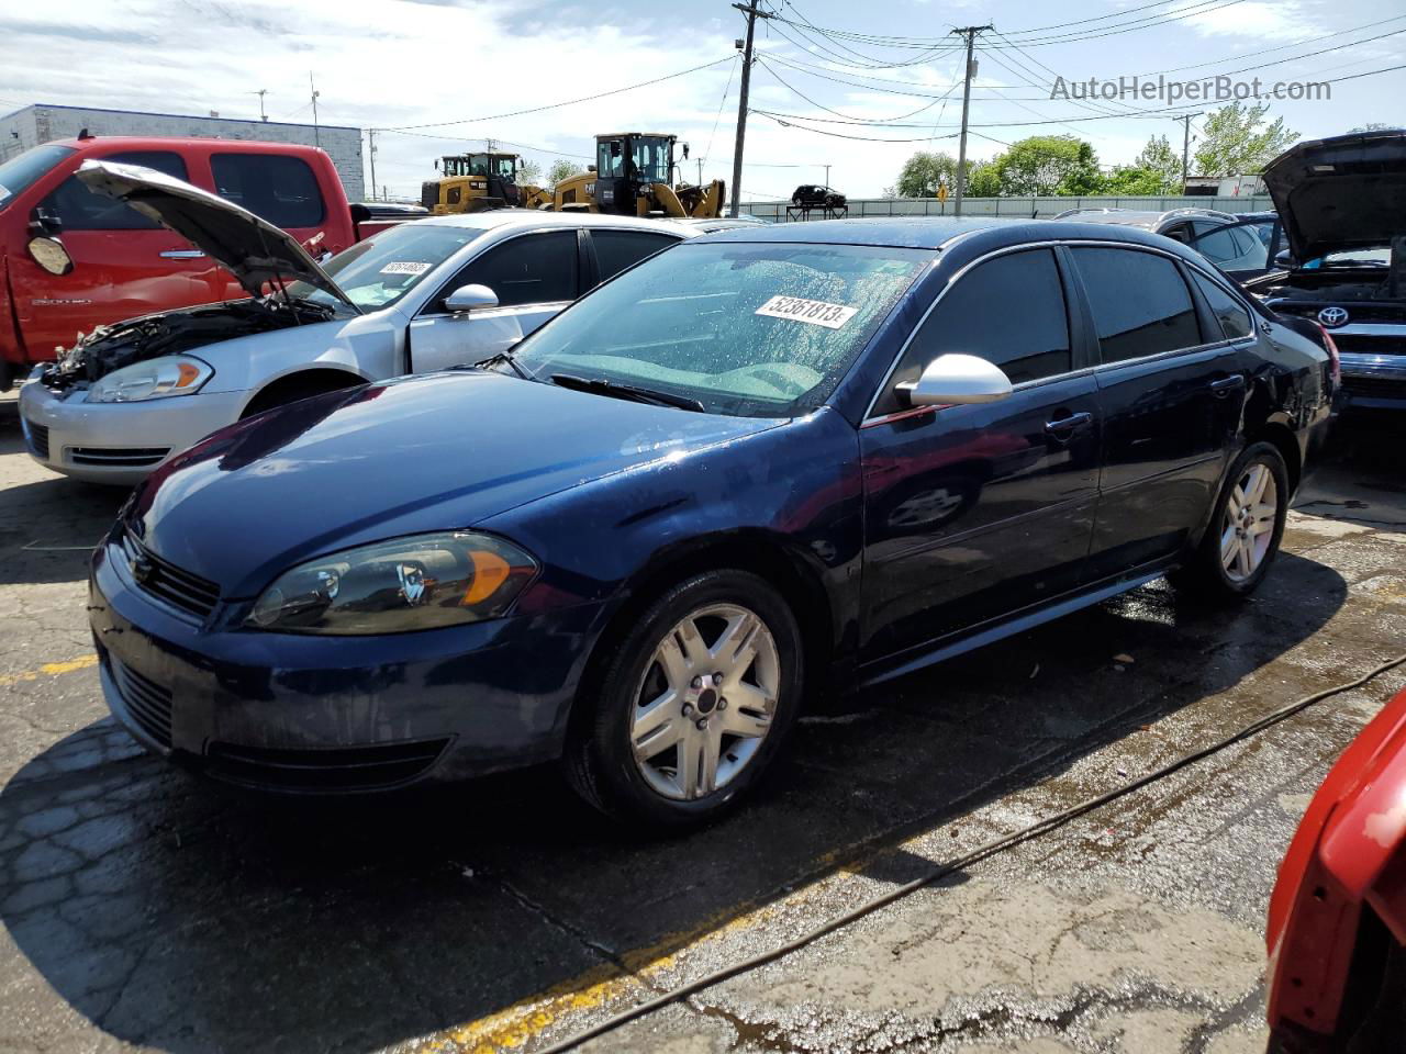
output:
M515 364L789 417L823 403L935 257L872 246L681 245L626 271L523 341Z

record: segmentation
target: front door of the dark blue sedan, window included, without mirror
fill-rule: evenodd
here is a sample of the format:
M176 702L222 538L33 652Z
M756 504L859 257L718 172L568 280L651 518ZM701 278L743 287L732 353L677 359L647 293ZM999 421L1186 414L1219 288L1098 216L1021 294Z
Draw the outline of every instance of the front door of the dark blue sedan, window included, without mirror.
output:
M1074 589L1098 496L1097 386L1052 249L949 287L859 430L863 652L873 661ZM1000 402L904 409L897 384L945 353L1000 365Z

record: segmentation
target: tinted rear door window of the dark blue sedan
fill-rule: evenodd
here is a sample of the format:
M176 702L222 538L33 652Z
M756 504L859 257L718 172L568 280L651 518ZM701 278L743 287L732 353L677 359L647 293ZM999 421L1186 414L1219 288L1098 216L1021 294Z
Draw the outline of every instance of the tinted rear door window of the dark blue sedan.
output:
M1191 291L1164 256L1132 249L1076 247L1104 363L1202 343Z

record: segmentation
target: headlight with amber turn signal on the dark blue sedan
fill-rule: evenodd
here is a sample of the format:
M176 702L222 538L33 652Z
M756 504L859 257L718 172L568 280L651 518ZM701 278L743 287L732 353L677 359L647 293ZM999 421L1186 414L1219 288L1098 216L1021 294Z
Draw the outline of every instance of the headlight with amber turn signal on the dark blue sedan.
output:
M395 634L503 614L537 561L488 534L413 534L278 576L245 625L301 634Z

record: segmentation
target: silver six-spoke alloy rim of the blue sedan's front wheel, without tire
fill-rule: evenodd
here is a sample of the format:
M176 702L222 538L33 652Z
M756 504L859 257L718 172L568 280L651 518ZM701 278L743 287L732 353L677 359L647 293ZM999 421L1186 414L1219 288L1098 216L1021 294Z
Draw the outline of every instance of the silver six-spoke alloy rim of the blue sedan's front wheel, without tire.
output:
M658 794L706 797L741 774L770 732L776 639L755 611L709 604L655 645L630 720L634 762Z

